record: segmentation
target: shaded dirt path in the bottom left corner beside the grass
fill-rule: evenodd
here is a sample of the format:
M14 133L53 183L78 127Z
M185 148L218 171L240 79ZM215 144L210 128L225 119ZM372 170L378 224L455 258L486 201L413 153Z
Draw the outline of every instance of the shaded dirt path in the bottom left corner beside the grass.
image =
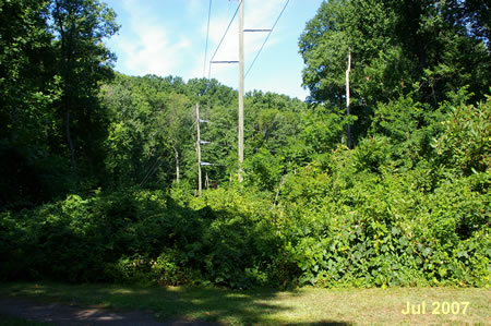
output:
M122 325L161 326L193 325L212 326L217 324L176 319L166 323L155 321L151 313L121 312L96 306L77 306L59 303L39 303L28 300L0 298L0 314L22 317L28 321L52 323L60 326L75 325ZM0 321L1 324L1 321Z

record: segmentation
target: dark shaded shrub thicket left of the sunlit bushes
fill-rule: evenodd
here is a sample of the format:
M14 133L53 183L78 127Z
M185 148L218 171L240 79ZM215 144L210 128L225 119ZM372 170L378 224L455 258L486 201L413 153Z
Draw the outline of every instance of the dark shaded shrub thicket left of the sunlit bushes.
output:
M1 277L237 288L273 281L280 238L253 205L206 203L223 195L208 193L191 209L161 192L133 190L2 214Z

